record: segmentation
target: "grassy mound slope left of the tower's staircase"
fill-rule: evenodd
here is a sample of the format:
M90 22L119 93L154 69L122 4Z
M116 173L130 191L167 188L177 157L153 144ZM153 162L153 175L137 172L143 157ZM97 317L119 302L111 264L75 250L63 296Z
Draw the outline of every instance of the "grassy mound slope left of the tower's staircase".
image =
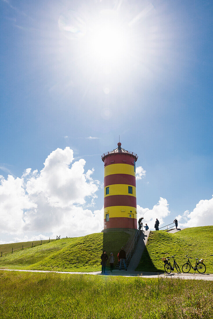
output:
M106 250L117 254L130 234L126 232L96 233L83 237L64 238L44 245L20 250L0 258L0 267L50 271L99 271L100 256ZM109 263L107 264L109 268Z

